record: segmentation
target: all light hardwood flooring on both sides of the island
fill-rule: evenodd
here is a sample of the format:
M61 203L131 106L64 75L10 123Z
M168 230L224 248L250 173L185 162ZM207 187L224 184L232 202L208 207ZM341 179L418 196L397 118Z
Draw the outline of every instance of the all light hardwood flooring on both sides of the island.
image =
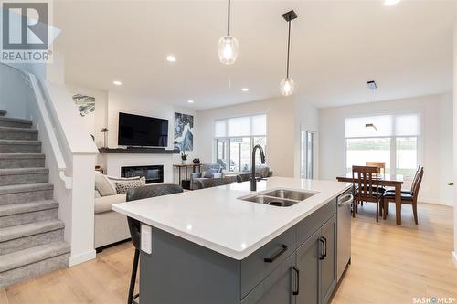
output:
M332 304L409 304L413 297L457 299L457 269L451 257L452 208L420 204L417 226L410 209L403 207L403 225L399 226L394 212L377 224L373 204L359 208L352 225L352 265ZM0 289L0 303L124 304L132 262L133 246L124 243L79 266Z

